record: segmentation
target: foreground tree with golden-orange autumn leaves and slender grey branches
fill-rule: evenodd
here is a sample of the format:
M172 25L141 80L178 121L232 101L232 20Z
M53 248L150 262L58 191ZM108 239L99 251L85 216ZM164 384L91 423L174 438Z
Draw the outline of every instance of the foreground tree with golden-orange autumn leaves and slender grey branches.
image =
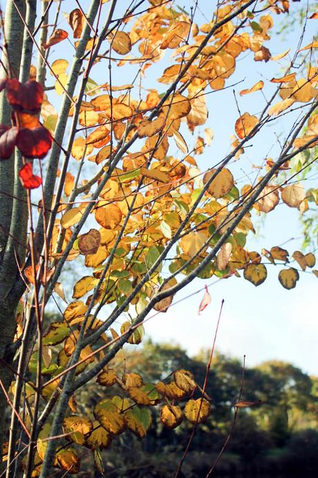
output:
M64 24L62 6L42 1L37 12L36 1L8 0L3 15L0 436L9 403L8 477L22 457L27 477L47 477L53 466L75 473L83 447L101 467L99 449L127 429L147 434L149 409L162 400L162 422L169 427L183 416L177 404L184 396L189 422L204 421L209 396L189 371L171 369L168 382L144 383L131 371L119 376L109 363L124 344L142 341L142 322L152 309L167 310L196 277L241 270L260 285L270 263L279 265L279 281L292 289L298 269L315 266L311 253L289 254L273 245L259 254L246 242L253 210L269 213L283 202L305 213L308 201L317 202L289 169L318 139L316 42L302 46L299 35L294 56L280 55L286 58L283 76L240 91L245 96L267 87L261 111L241 112L234 96L232 150L212 167L201 172L195 159L212 141L212 130L207 126L195 141L184 137L208 124L206 96L227 89L241 55L270 60L264 44L289 2L218 2L200 25L196 3L187 12L173 1L75 2ZM308 69L299 77L295 64L303 51ZM149 90L145 79L151 69L160 75L158 90ZM122 85L126 76L131 82ZM263 130L282 118L276 158L263 158L251 184L239 188L230 168L251 139L263 141ZM79 279L69 301L61 274L75 259ZM46 326L49 300L61 319ZM208 302L206 292L200 309ZM79 415L75 392L96 376L121 391L97 402L92 421ZM191 398L196 387L197 401Z

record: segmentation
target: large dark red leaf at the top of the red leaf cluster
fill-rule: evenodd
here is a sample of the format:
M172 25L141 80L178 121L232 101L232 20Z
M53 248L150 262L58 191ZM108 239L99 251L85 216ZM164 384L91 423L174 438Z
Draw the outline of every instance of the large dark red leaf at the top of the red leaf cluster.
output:
M38 113L43 100L43 87L37 81L28 80L20 83L18 80L7 80L7 100L14 109L25 109L28 112Z

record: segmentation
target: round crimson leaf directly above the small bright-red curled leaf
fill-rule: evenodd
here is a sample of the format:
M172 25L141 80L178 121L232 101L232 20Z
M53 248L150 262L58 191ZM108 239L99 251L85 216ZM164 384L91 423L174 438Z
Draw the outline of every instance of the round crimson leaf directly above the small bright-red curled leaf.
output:
M42 159L50 150L51 145L52 136L45 127L39 126L32 130L26 127L19 129L17 147L24 156Z

